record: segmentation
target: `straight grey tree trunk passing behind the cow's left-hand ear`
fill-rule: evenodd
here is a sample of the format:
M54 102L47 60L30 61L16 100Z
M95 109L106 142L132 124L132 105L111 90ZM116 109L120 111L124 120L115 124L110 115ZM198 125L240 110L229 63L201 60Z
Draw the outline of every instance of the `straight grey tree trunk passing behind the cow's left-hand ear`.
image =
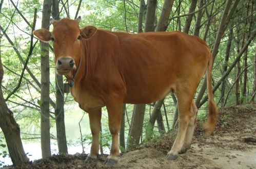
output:
M44 0L42 28L49 30L51 0ZM50 95L50 67L49 67L49 45L44 42L41 44L41 149L42 157L51 156L50 147L50 110L49 110L49 95Z

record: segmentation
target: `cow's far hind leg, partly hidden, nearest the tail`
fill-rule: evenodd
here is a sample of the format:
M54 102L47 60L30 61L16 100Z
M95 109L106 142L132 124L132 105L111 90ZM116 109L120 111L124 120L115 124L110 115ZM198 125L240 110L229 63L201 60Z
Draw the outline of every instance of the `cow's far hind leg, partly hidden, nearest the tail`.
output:
M195 119L196 119L196 115L198 114L198 108L196 107L194 101L192 101L192 104L191 104L191 114L192 116L190 117L188 129L186 132L185 140L184 140L180 154L186 153L187 149L190 147L190 144L193 138L193 133L195 128Z

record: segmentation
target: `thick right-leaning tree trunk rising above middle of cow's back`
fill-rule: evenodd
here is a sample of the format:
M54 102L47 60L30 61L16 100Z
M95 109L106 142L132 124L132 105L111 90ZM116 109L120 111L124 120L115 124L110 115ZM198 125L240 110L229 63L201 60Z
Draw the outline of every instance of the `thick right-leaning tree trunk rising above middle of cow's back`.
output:
M157 26L156 26L156 32L166 31L173 2L174 0L165 0L163 9L159 18L159 22L157 23Z

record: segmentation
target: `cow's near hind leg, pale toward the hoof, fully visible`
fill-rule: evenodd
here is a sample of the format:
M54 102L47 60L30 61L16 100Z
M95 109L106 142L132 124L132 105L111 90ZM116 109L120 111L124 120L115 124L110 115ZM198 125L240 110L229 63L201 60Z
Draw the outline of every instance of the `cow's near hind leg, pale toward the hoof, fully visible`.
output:
M192 117L192 99L193 91L188 89L178 90L176 92L178 98L178 110L179 110L179 129L176 139L172 145L171 151L167 154L167 160L174 160L178 157L178 154L181 152L184 140L186 137L188 125Z

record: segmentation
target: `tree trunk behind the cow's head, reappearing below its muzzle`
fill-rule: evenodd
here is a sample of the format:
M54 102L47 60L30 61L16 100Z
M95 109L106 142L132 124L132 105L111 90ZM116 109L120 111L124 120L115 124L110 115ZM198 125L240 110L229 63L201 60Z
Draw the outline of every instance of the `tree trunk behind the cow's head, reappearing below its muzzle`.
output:
M58 1L52 0L52 17L60 20L60 11L58 9ZM63 76L55 73L55 90L56 90L56 133L58 142L58 152L60 154L68 154L68 146L65 131L65 115L64 115L64 93L63 93Z

